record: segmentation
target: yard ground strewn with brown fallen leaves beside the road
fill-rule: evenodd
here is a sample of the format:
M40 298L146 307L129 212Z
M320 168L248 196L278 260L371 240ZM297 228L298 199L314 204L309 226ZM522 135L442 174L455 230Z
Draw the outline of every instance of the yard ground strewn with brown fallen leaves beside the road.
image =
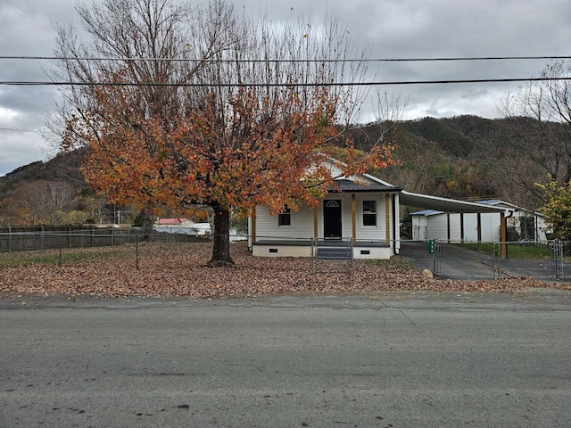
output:
M0 296L12 294L90 294L99 297L188 296L227 298L258 294L370 291L509 292L529 287L571 290L530 278L451 281L428 278L394 259L345 263L310 259L253 258L245 243L233 243L236 266L207 268L209 243L142 243L135 246L0 257Z

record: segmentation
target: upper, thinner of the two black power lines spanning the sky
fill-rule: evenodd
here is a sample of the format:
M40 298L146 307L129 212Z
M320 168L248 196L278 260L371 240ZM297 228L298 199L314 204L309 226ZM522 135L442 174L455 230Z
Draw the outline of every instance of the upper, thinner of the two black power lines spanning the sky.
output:
M70 57L70 56L24 56L0 55L0 60L35 61L172 61L172 62L456 62L456 61L526 61L526 60L569 60L566 55L541 56L459 56L437 58L360 58L360 59L208 59L208 58L153 58L153 57Z

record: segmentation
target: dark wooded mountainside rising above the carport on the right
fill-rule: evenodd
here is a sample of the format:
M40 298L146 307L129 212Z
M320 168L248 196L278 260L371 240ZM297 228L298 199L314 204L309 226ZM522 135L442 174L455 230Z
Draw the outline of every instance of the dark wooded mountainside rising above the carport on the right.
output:
M537 209L543 201L536 183L546 183L548 173L558 168L558 157L550 153L557 145L553 135L564 140L567 131L564 124L528 118L403 121L389 136L401 164L378 174L412 192L473 201L498 198Z

